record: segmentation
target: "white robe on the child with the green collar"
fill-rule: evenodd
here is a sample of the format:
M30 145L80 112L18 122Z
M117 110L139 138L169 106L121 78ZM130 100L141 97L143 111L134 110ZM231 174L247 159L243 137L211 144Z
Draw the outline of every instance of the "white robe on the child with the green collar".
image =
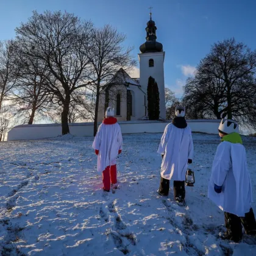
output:
M215 192L214 184L222 186L221 193ZM228 141L219 144L213 160L208 198L224 212L241 217L249 212L252 185L247 170L246 151L242 144Z

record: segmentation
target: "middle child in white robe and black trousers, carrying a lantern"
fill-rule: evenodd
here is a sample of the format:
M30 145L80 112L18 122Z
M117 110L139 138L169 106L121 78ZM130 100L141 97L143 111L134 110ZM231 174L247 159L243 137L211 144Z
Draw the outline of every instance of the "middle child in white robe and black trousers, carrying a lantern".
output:
M175 118L165 127L157 152L163 158L158 194L168 196L169 181L172 179L174 198L178 203L183 203L187 166L188 163L192 163L194 152L191 129L187 126L184 107L176 107Z

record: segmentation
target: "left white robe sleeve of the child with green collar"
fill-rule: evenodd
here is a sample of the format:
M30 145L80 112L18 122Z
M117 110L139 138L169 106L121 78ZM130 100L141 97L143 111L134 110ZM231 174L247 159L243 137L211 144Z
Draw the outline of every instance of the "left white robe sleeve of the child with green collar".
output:
M231 168L230 146L225 142L219 144L213 160L212 177L217 186L222 186L226 179L227 172Z

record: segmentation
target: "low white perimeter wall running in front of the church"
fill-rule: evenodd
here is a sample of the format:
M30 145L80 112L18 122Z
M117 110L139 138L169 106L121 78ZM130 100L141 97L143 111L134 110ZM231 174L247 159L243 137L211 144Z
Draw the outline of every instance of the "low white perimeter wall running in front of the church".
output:
M219 120L188 120L193 132L218 134ZM162 133L166 122L158 121L123 121L119 122L123 134L130 133ZM93 136L93 123L69 124L72 135ZM26 124L13 127L8 133L7 140L38 140L62 135L60 124Z

